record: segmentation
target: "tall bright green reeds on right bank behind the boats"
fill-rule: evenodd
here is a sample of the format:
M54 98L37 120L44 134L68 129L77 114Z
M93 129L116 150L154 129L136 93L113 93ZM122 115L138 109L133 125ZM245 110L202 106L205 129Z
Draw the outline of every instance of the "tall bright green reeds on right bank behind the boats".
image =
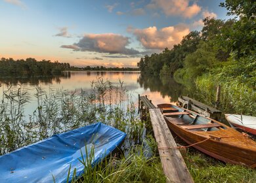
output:
M220 80L213 75L203 75L196 79L197 97L208 105L215 105L216 86L221 86L219 109L224 113L256 116L256 91L236 78Z

